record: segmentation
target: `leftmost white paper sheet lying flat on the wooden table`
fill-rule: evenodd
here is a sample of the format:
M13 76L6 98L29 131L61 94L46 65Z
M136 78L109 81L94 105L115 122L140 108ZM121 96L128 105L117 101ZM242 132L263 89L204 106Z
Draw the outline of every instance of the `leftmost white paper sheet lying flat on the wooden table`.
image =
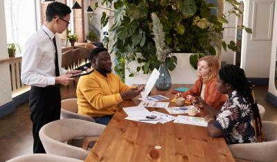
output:
M150 111L148 111L146 108L142 106L126 107L123 108L123 110L129 117L145 117L151 115Z

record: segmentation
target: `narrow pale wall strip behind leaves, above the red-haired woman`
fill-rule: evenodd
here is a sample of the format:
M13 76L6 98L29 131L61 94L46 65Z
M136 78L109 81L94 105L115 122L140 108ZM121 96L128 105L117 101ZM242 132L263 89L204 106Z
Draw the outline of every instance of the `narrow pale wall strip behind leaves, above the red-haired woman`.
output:
M229 3L224 3L224 13L228 12L228 10L231 9L231 5ZM227 25L224 27L235 27L235 15L231 15L227 17L227 20L229 21ZM234 28L226 28L224 30L223 39L226 43L229 43L230 41L235 41L235 29ZM227 48L228 49L228 48ZM222 48L222 57L221 61L226 61L227 64L233 64L234 61L234 52L232 50L225 50Z

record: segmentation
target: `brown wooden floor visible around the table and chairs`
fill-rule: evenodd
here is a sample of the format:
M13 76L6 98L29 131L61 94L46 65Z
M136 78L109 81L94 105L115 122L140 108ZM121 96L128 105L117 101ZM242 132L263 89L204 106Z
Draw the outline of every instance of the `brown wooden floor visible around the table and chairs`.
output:
M265 106L265 121L277 121L277 108L265 101L267 86L255 87L256 99ZM75 98L75 86L62 87L62 99ZM0 119L0 161L33 153L32 123L28 103L20 105L15 112Z

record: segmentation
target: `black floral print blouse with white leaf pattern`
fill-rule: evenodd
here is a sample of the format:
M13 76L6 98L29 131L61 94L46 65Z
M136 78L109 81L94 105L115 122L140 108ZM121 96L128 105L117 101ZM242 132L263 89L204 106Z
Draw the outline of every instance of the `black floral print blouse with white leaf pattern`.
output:
M233 91L213 122L224 134L228 144L256 142L252 125L253 112L247 101Z

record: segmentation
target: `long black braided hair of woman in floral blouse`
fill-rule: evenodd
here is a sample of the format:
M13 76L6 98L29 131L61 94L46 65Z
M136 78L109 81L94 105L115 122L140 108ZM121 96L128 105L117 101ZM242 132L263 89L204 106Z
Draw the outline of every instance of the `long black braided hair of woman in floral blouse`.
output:
M224 83L229 83L234 90L244 97L250 103L253 112L253 119L255 125L255 135L258 141L263 141L262 120L260 119L260 112L256 100L254 99L253 83L247 81L244 70L236 65L225 65L219 72L220 79Z

